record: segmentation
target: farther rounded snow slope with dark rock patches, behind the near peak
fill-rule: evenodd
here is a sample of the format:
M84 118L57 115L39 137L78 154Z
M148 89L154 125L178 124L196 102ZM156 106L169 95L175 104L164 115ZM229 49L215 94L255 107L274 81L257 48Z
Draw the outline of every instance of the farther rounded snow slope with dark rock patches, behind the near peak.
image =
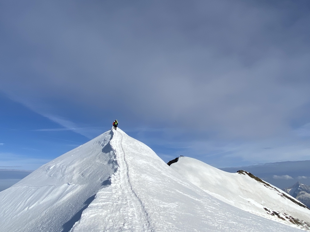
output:
M189 157L180 157L170 167L221 201L247 212L310 231L310 210L307 207L248 172L228 173Z

